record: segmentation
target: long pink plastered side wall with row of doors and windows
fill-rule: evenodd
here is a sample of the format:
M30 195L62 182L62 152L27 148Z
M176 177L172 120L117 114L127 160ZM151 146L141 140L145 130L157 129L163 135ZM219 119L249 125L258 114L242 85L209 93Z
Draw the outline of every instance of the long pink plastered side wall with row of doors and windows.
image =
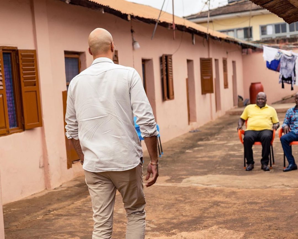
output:
M208 50L208 43L203 38L196 36L196 44L193 45L189 33L176 31L174 41L172 31L163 27L158 27L154 39L150 40L153 24L125 21L108 13L61 1L0 0L0 3L0 20L13 19L5 21L7 24L3 26L0 45L37 50L43 115L42 128L0 137L1 149L4 149L0 162L3 203L57 187L82 175L80 164L73 164L69 170L66 168L62 105L62 91L66 90L64 51L84 52L86 66L90 66L93 59L87 52L87 39L96 27L111 32L117 45L119 63L135 67L141 77L142 58L152 59L155 92L149 98L156 102L156 117L163 142L197 128L233 107L232 60L237 64L238 94L243 94L241 49L234 44L210 40ZM22 16L21 21L11 17L18 13ZM131 43L131 25L141 46L135 51ZM159 62L162 54L173 54L174 100L163 101ZM201 94L200 58L207 57L213 58L213 78L214 59L219 60L222 105L221 111L217 112L215 94ZM228 89L224 89L223 83L223 57L228 59ZM197 122L190 125L185 81L187 59L194 61L197 118ZM18 150L15 150L16 145Z

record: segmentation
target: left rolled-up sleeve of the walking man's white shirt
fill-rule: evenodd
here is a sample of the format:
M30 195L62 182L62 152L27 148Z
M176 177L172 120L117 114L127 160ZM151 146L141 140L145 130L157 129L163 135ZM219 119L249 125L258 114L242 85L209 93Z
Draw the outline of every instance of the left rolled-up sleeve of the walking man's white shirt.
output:
M79 127L77 123L77 116L75 113L75 104L72 99L71 84L69 84L68 91L67 91L65 122L66 122L66 126L65 126L66 137L68 139L78 140Z

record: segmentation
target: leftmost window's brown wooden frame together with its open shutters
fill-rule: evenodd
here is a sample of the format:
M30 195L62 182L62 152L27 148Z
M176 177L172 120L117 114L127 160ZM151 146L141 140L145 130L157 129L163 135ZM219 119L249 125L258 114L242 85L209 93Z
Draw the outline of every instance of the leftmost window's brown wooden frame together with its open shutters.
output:
M5 73L3 52L12 52L12 74L13 74L13 89L15 97L16 118L18 127L10 129L8 119L8 105L5 86ZM0 137L7 136L14 133L20 133L25 130L42 127L42 108L39 89L39 76L38 76L38 62L36 49L18 49L15 46L0 46L0 60L1 60L1 73L2 83L4 80L3 94L6 98L4 102L4 119L5 128L1 128ZM32 85L33 83L33 85ZM1 89L1 91L3 90ZM36 102L32 103L32 99ZM6 105L5 105L6 104ZM2 112L0 112L2 114ZM32 118L29 114L34 114ZM4 133L5 132L5 133Z

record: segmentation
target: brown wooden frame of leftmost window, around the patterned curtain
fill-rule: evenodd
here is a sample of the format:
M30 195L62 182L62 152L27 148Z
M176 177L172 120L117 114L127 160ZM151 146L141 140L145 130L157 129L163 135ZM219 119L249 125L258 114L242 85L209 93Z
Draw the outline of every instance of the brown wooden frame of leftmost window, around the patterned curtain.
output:
M14 100L15 100L15 118L17 122L17 127L8 128L7 134L1 135L1 136L5 136L5 135L20 133L24 131L24 113L22 110L23 107L22 107L22 100L21 100L21 81L20 81L20 75L19 75L20 73L18 70L18 65L19 65L18 54L17 54L18 48L13 46L0 46L0 49L2 49L3 53L11 54L13 94L14 94ZM4 72L4 67L3 67L3 72ZM7 105L7 99L6 99L6 105ZM7 105L7 108L8 108L8 105Z

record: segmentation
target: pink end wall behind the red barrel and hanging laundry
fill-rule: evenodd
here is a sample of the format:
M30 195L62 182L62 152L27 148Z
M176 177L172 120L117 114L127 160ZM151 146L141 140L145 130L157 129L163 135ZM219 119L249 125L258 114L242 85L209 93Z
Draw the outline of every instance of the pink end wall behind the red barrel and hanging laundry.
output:
M267 103L271 104L283 97L295 94L298 87L285 84L285 89L278 83L279 72L267 69L266 62L263 60L263 52L243 55L243 89L244 98L249 99L249 86L252 82L261 82L267 94Z

